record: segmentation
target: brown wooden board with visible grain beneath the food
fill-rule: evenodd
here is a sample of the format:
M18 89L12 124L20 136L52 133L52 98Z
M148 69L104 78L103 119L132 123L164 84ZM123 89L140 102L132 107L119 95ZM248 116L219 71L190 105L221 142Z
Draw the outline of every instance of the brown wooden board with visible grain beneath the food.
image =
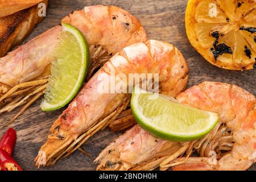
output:
M187 60L190 69L188 87L199 84L202 81L227 82L237 84L256 95L255 70L236 72L214 67L205 61L189 44L184 27L186 0L49 0L46 18L42 23L38 24L27 40L56 26L60 23L60 19L68 15L72 10L98 4L122 7L137 16L146 29L148 38L169 42L178 47ZM39 104L40 101L35 102L11 125L18 131L18 142L14 158L26 170L38 170L35 167L34 158L47 138L49 127L62 111L43 113ZM18 110L16 109L11 114L1 115L0 122L8 121ZM0 130L0 136L3 135L5 130ZM117 136L118 134L109 130L101 131L82 146L92 156L86 156L76 151L68 158L57 162L55 166L40 168L39 170L94 170L96 165L93 164L93 159ZM254 164L250 169L253 170L255 167L256 165Z

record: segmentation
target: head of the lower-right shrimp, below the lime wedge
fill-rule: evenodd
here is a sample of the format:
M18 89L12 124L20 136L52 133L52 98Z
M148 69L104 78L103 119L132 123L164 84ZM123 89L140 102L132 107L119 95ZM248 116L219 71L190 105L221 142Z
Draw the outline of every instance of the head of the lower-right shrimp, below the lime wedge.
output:
M135 125L106 147L95 162L100 163L97 170L152 170L182 147L178 142L155 138Z

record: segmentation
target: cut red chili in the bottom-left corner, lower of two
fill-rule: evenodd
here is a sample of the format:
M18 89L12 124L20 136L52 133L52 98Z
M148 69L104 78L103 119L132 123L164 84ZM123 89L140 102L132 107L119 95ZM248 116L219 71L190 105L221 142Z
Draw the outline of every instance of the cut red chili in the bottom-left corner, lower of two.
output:
M5 151L0 148L0 167L3 171L23 171L18 163Z

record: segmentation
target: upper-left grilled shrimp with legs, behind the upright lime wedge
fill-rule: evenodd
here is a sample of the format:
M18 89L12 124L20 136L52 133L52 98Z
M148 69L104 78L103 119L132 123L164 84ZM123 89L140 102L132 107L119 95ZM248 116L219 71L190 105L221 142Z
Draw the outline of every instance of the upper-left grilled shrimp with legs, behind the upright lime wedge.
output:
M61 21L79 28L90 46L87 80L123 47L147 40L141 23L115 6L85 7ZM61 30L53 27L0 59L0 114L28 102L23 111L43 94Z

